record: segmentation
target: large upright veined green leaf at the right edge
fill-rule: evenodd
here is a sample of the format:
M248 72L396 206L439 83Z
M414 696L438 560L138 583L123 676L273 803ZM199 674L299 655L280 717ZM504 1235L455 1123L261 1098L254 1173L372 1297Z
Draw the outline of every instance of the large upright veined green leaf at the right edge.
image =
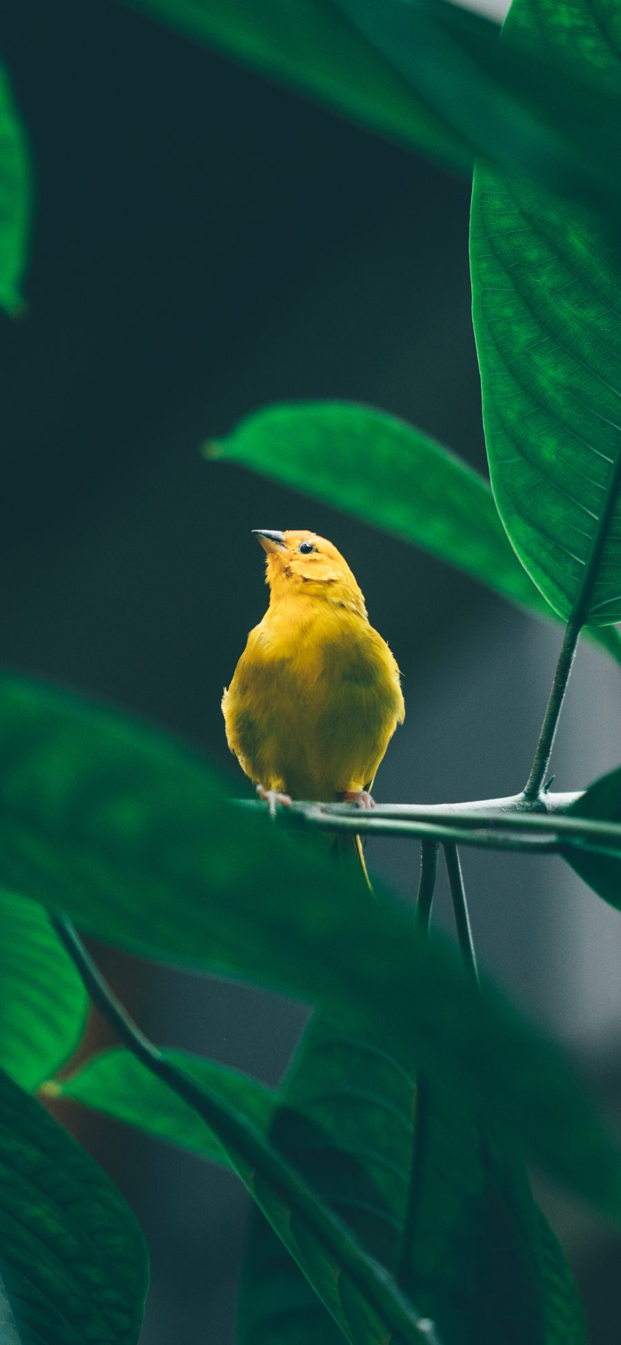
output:
M507 34L593 79L621 74L608 0L515 0ZM472 286L492 488L563 617L621 619L621 260L578 214L474 175Z

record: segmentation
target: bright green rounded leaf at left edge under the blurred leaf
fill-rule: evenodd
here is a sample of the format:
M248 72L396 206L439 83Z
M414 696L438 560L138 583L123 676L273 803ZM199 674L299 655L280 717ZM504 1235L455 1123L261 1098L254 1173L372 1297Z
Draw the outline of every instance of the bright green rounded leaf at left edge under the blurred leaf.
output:
M89 1006L47 911L0 890L0 1068L34 1089L73 1054Z

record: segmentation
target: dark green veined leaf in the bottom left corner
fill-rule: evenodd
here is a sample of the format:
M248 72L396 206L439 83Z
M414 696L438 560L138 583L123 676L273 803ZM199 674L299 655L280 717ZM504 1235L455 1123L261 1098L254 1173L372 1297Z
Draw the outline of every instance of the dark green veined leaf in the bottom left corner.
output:
M97 1163L1 1072L0 1178L11 1345L134 1345L148 1286L141 1231Z

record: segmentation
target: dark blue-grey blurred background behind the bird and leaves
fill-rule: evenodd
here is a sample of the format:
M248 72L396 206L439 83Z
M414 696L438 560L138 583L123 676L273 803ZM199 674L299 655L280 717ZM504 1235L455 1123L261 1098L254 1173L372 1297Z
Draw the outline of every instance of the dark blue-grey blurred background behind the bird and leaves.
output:
M266 601L250 529L310 527L347 555L405 674L407 721L376 796L515 792L558 629L394 538L199 456L257 406L343 397L484 468L469 184L113 0L5 0L0 47L36 171L28 312L0 321L5 663L229 764L222 687ZM617 706L618 670L585 651L559 787L618 764ZM368 847L371 869L407 896L410 850ZM469 853L465 868L483 964L620 1110L618 916L555 861ZM160 1041L278 1080L301 1009L99 954ZM71 1123L147 1229L145 1345L230 1345L246 1212L234 1178L85 1114ZM540 1193L594 1341L617 1342L618 1243Z

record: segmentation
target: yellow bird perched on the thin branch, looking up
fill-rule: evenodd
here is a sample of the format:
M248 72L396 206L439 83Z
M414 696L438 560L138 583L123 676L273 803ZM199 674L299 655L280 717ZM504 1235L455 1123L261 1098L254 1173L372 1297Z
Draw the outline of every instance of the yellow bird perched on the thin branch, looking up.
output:
M332 542L254 535L267 553L270 601L222 699L229 746L272 810L292 798L371 807L375 772L405 717L397 662Z

